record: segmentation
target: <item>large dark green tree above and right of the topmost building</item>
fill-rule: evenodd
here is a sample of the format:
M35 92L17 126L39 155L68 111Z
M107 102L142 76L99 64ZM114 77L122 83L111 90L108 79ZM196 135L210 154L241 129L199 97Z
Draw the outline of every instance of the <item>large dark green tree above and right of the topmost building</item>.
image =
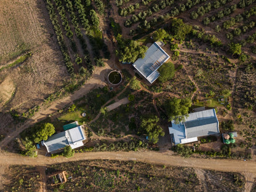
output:
M192 30L192 26L183 23L181 18L174 18L172 23L169 25L168 30L175 39L183 41L186 34L190 33Z

